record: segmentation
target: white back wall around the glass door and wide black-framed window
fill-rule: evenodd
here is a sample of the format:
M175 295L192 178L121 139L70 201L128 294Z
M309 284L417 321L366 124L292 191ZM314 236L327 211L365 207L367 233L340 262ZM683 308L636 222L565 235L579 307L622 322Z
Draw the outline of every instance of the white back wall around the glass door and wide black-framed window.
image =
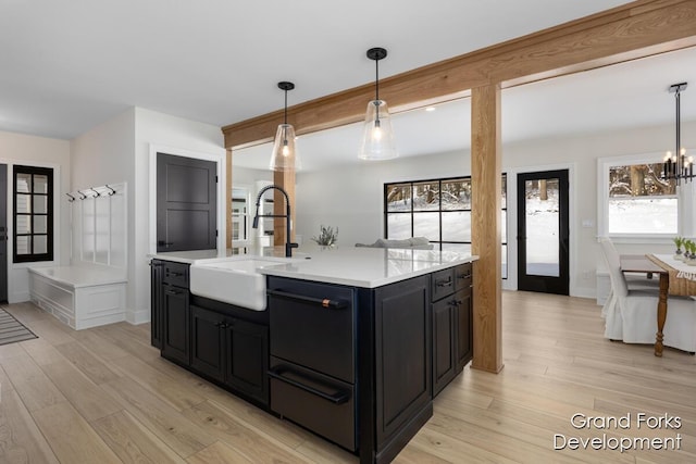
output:
M517 173L569 168L571 171L571 294L594 298L597 267L602 267L597 244L597 159L656 152L673 145L673 125L625 129L610 134L558 137L506 145L502 168L508 173L508 237L517 225L512 189ZM682 123L682 140L696 146L696 122ZM692 138L685 135L691 134ZM658 159L659 160L659 159ZM321 224L339 228L338 244L373 242L384 234L383 185L401 180L470 175L470 153L450 152L358 166L341 166L340 175L306 172L297 175L297 233L309 238ZM336 172L336 171L335 171ZM334 173L335 173L334 172ZM582 227L583 221L592 226ZM517 266L517 247L509 240L509 268ZM622 253L671 252L671 243L618 244ZM517 288L511 272L506 288Z

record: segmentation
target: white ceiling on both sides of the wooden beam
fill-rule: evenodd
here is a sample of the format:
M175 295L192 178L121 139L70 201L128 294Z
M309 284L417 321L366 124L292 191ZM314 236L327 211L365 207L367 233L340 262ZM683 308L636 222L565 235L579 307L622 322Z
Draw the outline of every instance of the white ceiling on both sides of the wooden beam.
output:
M388 50L386 77L622 3L0 0L0 130L72 139L134 105L224 126L281 109L279 80L297 86L290 105L371 83L371 47ZM670 122L667 87L684 80L694 98L683 95L682 116L696 120L695 58L682 51L507 89L505 140ZM395 115L401 155L465 148L468 104ZM359 133L300 138L304 167L352 160ZM269 152L238 152L235 164L265 168Z

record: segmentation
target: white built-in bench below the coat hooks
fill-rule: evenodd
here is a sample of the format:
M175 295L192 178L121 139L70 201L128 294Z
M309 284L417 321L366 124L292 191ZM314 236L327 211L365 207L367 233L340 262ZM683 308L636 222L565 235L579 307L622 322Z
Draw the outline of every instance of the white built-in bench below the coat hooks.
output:
M29 267L32 301L76 330L125 321L126 283L117 267Z

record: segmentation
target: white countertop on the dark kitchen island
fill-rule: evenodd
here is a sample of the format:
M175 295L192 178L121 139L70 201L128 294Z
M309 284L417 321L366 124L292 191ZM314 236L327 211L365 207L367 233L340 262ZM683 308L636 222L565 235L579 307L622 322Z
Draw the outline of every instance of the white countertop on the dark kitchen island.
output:
M263 249L260 252L234 255L215 250L158 253L152 258L184 263L202 263L222 260L239 260L254 255L283 256L283 247ZM290 277L302 280L375 288L406 280L435 271L469 263L478 256L434 250L397 248L327 248L301 247L293 251L293 258L277 265L258 269L261 274Z

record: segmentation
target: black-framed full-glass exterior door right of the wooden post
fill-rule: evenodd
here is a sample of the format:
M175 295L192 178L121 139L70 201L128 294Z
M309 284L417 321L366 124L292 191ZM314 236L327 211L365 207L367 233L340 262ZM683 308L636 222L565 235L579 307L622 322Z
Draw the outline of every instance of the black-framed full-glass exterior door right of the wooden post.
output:
M569 294L568 170L518 174L518 289Z

